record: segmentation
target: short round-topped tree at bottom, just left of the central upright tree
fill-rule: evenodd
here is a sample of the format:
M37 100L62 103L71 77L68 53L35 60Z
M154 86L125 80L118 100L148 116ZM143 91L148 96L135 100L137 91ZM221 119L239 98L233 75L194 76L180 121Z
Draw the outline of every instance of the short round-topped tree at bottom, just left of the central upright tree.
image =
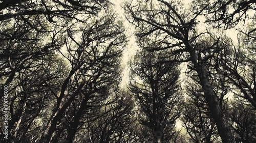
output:
M125 91L118 91L111 98L111 104L101 107L101 117L89 123L86 142L132 142L133 99Z

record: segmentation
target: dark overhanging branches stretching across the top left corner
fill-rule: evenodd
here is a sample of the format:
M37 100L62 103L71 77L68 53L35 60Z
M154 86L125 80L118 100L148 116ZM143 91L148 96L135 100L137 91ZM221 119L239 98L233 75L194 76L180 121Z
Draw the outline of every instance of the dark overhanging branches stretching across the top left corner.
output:
M26 21L24 17L31 16L31 15L37 15L40 16L42 19L46 19L51 23L58 22L57 20L60 20L62 18L71 18L75 19L77 21L83 21L80 18L77 18L76 16L78 14L93 14L96 15L101 9L105 9L108 4L110 4L109 1L101 1L101 0L95 0L95 1L73 1L73 0L67 0L67 1L26 1L26 0L20 0L20 1L2 1L0 3L0 10L3 10L3 13L0 15L0 21L8 20L11 18L16 17L22 17L23 20ZM41 19L38 19L41 20ZM67 20L67 19L66 19ZM29 21L27 21L30 23ZM33 23L30 23L30 25L33 27Z

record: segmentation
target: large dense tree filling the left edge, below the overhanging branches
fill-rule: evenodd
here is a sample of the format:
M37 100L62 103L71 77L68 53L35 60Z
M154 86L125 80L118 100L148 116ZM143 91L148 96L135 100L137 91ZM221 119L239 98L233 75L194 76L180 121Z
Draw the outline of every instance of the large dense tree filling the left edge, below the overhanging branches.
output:
M13 25L2 22L6 26L0 36L1 85L7 85L9 90L8 129L12 142L25 139L25 134L34 128L31 126L50 104L48 101L53 97L52 92L58 90L65 75L62 70L66 69L54 52L59 45L53 41L42 44L40 37L44 34L36 33L27 23L19 22L17 20ZM21 124L28 126L23 127Z

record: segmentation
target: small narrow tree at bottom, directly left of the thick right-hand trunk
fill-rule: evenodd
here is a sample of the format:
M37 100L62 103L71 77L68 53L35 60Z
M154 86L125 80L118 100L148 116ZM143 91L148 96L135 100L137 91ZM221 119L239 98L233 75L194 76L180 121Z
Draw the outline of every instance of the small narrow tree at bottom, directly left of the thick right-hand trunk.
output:
M195 87L196 85L193 86ZM193 142L210 143L218 140L218 130L210 114L203 95L192 88L189 89L189 95L184 102L182 121Z

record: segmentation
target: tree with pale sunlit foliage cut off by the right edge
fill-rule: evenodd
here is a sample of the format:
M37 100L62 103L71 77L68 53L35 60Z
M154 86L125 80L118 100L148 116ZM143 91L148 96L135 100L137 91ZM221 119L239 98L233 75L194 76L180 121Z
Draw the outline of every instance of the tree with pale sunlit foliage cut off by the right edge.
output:
M256 64L255 42L250 37L242 39L238 36L238 44L231 43L229 48L221 53L218 58L220 67L217 71L228 78L233 86L232 90L240 90L241 99L247 100L254 109L256 108ZM247 52L248 51L248 52ZM236 93L235 93L236 94Z

